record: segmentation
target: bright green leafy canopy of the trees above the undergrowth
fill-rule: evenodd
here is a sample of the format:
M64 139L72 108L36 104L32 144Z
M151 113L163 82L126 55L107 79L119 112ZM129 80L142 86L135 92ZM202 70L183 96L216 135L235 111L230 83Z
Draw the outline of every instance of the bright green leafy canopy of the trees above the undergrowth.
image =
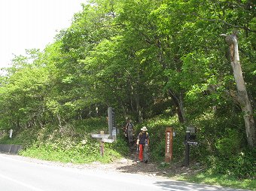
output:
M69 29L59 32L43 52L29 50L28 55L15 57L1 89L8 100L2 102L11 112L16 111L11 106L18 105L17 114L28 114L29 107L36 108L35 99L42 100L37 104L49 115L63 118L87 115L96 105L104 105L102 110L114 105L136 116L137 105L142 113L150 110L155 100L170 99L166 92L172 89L184 95L187 115L190 108L194 113L197 108L200 115L207 105L231 100L235 84L219 35L233 29L239 29L246 83L255 92L250 2L91 3L83 5Z

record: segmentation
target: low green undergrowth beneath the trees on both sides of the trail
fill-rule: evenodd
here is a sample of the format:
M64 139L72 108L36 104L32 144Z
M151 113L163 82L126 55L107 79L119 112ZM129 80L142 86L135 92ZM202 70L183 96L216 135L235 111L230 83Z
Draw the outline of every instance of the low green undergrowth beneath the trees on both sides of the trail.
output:
M206 166L206 171L195 175L179 176L180 180L190 180L200 183L218 184L243 189L253 189L255 180L255 150L246 150L240 147L242 139L238 138L236 129L226 128L221 131L224 120L212 123L211 117L206 116L195 120L198 129L198 147L190 147L190 160L200 162ZM225 123L227 125L227 123ZM186 126L178 123L177 117L162 114L135 124L135 135L138 135L142 126L147 126L150 135L151 161L159 164L165 157L165 130L172 127L175 132L173 138L172 163L181 165L184 161L184 132ZM201 127L204 128L201 128ZM217 127L216 127L217 126ZM206 129L203 131L202 129ZM105 117L90 118L75 121L65 126L47 125L44 128L14 130L13 138L8 135L0 138L1 144L22 144L24 150L20 155L33 158L72 163L112 162L127 156L130 153L126 138L120 132L117 141L105 143L104 156L101 156L99 141L91 137L91 133L108 132ZM236 141L232 141L236 138ZM227 145L228 143L228 145ZM232 148L232 150L230 150ZM226 156L228 153L228 157ZM169 165L163 167L168 168Z

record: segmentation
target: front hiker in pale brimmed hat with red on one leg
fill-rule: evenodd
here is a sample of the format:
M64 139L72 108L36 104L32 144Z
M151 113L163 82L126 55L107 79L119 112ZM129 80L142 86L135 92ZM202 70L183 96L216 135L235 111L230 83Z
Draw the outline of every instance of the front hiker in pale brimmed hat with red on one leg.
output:
M148 163L148 144L149 135L147 127L142 127L142 132L139 133L136 144L139 145L139 161Z

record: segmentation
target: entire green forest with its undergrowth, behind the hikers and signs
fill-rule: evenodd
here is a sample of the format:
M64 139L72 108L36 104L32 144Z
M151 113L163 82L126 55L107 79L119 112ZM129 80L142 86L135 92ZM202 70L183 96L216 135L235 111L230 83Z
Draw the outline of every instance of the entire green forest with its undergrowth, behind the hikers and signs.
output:
M164 159L164 131L175 129L174 161L196 129L194 162L239 180L255 180L255 125L245 125L229 46L236 32L248 99L255 117L256 5L247 0L96 0L43 51L15 56L0 79L1 143L23 155L102 162L126 155L122 136L105 158L90 133L132 119L151 133L151 159ZM232 57L231 57L232 59ZM8 131L14 129L14 137ZM249 140L250 139L250 140ZM50 154L51 153L51 154ZM53 154L54 153L54 154Z

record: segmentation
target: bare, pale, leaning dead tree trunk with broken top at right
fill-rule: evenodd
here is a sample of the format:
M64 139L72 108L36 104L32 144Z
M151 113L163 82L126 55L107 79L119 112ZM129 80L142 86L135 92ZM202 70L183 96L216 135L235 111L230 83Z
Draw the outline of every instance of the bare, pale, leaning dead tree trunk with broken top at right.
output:
M237 96L239 100L239 105L243 112L243 118L245 120L245 130L247 135L247 141L249 147L256 146L256 131L253 118L253 111L251 107L251 102L248 99L248 94L245 87L245 80L242 76L242 68L239 61L238 52L238 41L236 34L224 35L226 37L225 41L230 46L230 62L233 68L233 75L236 81Z

